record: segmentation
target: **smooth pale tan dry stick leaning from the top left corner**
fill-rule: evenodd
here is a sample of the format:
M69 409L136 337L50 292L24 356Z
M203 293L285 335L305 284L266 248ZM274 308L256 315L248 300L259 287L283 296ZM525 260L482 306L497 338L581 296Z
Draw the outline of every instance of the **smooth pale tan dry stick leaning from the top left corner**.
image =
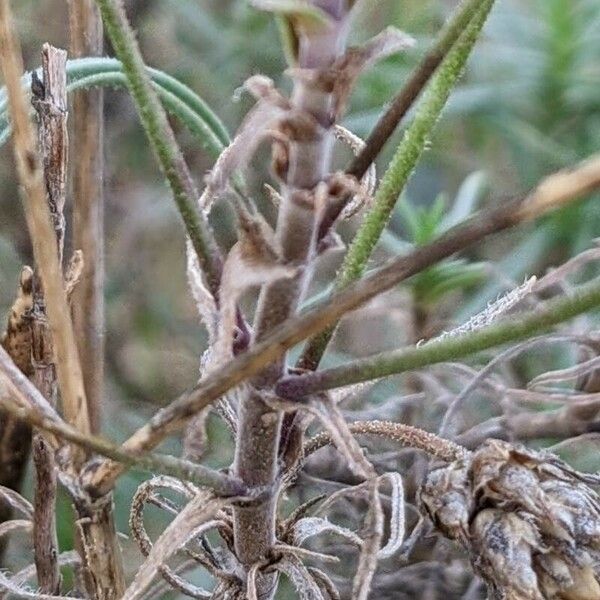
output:
M8 0L0 2L0 64L13 120L15 161L23 186L25 215L44 287L48 321L54 341L63 409L68 422L80 431L88 432L90 423L81 365L56 252L54 227L46 202L43 170L21 87L23 64L19 45L14 37Z

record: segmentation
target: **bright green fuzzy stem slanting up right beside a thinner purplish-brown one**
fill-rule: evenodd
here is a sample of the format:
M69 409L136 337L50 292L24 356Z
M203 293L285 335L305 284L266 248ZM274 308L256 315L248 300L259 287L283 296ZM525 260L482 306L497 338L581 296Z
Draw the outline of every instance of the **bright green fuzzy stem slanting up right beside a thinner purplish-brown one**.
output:
M379 184L373 206L365 215L348 249L336 278L335 288L337 290L345 288L351 281L359 279L363 275L369 258L388 224L396 202L425 150L450 92L463 72L465 63L493 4L494 0L484 0L476 12L469 13L472 17L471 21L431 80L425 96L419 104L415 119L406 130L402 142ZM314 371L318 367L335 328L336 324L308 341L298 362L300 368Z

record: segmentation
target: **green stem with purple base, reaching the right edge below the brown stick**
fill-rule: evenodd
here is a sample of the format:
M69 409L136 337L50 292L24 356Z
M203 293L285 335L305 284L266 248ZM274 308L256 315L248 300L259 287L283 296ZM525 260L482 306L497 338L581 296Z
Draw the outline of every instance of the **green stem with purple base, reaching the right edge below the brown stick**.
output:
M447 337L440 341L432 340L421 346L383 352L318 373L288 377L277 385L276 392L283 398L298 398L440 362L455 361L500 344L526 339L598 306L600 280L582 286L579 291L568 297L550 300L542 307L536 308L535 312L511 316L506 321L471 333Z

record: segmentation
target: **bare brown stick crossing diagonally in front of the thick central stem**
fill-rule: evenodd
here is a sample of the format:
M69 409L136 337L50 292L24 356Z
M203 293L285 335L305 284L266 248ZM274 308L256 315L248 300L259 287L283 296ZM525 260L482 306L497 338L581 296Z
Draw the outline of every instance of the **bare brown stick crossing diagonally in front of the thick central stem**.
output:
M600 155L593 156L573 169L550 175L528 196L482 211L434 242L388 262L315 308L288 319L263 341L211 373L190 392L157 412L125 442L124 448L130 452L142 453L155 447L199 410L258 373L282 356L288 348L322 331L371 298L492 233L538 218L597 189L600 189ZM120 465L106 462L92 474L87 483L97 491L110 489L121 472Z

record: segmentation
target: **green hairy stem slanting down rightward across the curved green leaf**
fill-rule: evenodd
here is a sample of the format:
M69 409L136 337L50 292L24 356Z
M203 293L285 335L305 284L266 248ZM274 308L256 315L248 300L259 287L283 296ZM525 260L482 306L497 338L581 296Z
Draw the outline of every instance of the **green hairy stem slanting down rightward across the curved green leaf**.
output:
M200 213L198 190L175 140L165 111L158 101L122 0L96 0L117 57L123 65L129 90L146 135L169 182L187 233L198 254L209 289L218 297L222 260L212 231Z

